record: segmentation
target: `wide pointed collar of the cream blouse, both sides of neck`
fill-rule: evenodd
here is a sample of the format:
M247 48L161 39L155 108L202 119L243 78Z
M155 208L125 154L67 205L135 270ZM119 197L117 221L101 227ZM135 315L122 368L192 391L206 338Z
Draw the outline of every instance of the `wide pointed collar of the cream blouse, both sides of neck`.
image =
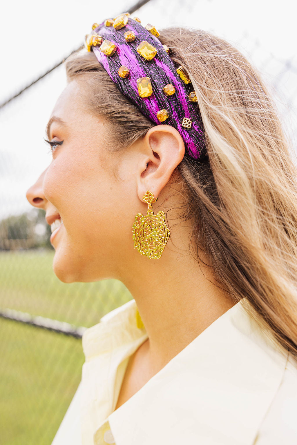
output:
M281 384L287 354L244 303L215 320L108 415L117 445L253 444ZM107 314L83 335L86 362L111 350L127 351L131 344L134 350L147 336L139 326L134 300Z

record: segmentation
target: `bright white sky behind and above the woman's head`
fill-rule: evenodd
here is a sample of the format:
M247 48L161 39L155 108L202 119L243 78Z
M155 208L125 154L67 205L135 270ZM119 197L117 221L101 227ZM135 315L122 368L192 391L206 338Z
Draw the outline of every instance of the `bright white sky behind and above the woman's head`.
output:
M0 16L0 102L78 48L94 22L115 17L134 3L5 2ZM277 85L278 105L289 132L296 128L297 35L292 0L151 0L135 15L142 24L157 29L202 28L235 44L270 85ZM0 219L32 209L25 194L51 162L43 137L65 84L62 65L0 110Z

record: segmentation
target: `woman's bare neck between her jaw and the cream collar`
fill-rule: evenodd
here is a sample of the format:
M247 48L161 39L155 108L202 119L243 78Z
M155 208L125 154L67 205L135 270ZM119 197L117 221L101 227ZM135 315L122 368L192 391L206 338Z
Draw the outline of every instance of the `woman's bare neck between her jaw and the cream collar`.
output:
M137 258L126 263L120 278L136 301L155 369L163 368L234 305L214 284L212 269L190 254L187 226L169 226L171 239L160 259L139 258L135 251Z

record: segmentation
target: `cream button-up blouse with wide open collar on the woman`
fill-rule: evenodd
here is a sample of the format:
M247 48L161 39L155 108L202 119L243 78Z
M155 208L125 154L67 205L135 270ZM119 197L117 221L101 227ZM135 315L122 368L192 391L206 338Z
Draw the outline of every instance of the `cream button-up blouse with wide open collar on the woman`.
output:
M146 339L135 300L84 332L81 383L52 445L297 444L297 369L242 301L114 411Z

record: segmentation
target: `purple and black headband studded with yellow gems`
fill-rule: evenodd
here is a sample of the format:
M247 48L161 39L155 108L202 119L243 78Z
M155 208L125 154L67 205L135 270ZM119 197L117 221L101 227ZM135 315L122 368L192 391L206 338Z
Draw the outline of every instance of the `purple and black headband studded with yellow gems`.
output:
M199 159L204 138L197 97L183 66L175 69L159 32L150 24L144 28L128 12L92 28L85 47L118 89L155 124L177 129L188 157Z

